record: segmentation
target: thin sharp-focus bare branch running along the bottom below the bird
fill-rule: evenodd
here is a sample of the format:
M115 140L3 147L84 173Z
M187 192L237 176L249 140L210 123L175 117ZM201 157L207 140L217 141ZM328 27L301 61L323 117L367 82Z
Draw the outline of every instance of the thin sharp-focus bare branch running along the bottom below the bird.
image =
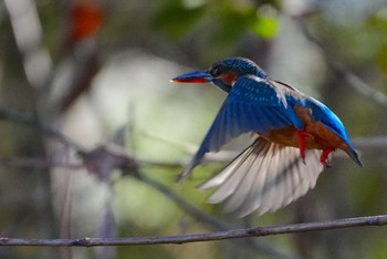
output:
M0 246L36 246L36 247L96 247L96 246L139 246L160 244L186 244L198 241L216 241L247 237L263 237L280 234L306 232L362 226L387 225L387 215L344 218L318 222L291 224L283 226L268 226L247 229L236 229L217 232L130 238L79 238L79 239L18 239L0 238Z

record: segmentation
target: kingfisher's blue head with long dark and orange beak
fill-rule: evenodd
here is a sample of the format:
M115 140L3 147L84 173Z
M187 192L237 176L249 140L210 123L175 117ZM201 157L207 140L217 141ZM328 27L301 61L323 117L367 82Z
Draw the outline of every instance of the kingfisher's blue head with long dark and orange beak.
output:
M253 61L244 58L227 58L218 61L208 70L182 74L171 81L178 83L211 82L224 92L230 92L238 77L242 75L266 77L266 74Z

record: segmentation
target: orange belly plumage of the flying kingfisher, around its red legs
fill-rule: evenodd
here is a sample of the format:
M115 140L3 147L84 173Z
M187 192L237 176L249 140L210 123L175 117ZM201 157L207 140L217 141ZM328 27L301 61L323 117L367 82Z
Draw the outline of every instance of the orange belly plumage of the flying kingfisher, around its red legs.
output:
M328 147L348 147L348 145L341 137L338 137L324 124L314 121L310 108L295 106L294 111L299 118L304 123L304 130L313 135L313 138L305 138L305 148L325 149ZM299 134L297 130L294 126L287 126L272 131L268 134L264 134L263 137L281 145L299 147Z

